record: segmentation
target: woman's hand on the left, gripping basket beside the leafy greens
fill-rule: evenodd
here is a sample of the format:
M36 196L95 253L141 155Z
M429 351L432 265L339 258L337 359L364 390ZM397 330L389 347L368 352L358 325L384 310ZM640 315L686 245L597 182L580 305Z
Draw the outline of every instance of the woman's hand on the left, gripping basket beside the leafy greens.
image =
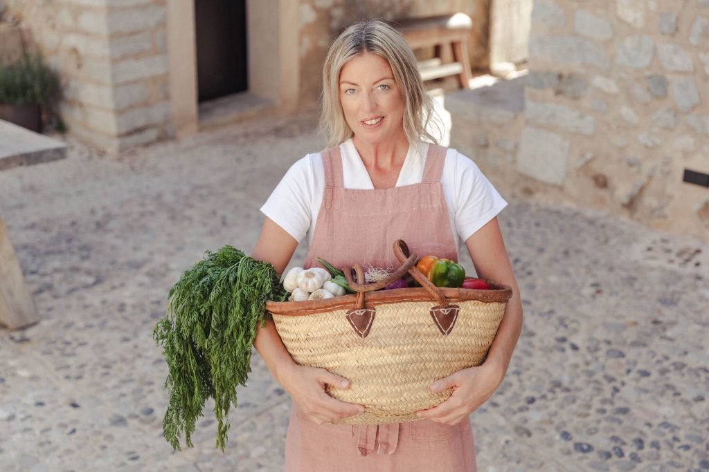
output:
M306 417L318 425L357 415L364 406L336 400L325 392L325 384L335 388L350 388L345 377L318 367L291 364L284 372L279 372L283 388L290 394Z

